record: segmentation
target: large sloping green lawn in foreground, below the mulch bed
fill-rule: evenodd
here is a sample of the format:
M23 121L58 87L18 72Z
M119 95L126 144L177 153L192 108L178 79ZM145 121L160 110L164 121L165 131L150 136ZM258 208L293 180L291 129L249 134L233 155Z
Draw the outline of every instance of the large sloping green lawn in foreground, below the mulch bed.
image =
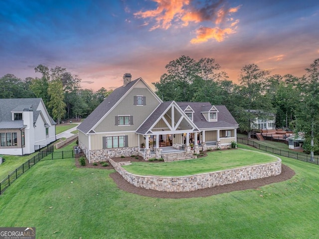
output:
M317 239L319 166L282 160L290 180L190 199L127 193L114 170L42 160L0 196L1 227L36 227L37 239Z

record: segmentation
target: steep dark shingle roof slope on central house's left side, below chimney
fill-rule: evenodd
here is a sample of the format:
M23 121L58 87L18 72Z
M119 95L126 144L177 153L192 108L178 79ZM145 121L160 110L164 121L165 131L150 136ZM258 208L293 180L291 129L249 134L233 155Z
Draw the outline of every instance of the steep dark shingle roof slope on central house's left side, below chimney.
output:
M139 78L141 79L141 78ZM87 134L99 122L99 120L128 92L139 80L133 80L126 86L116 88L92 113L77 127L78 130Z

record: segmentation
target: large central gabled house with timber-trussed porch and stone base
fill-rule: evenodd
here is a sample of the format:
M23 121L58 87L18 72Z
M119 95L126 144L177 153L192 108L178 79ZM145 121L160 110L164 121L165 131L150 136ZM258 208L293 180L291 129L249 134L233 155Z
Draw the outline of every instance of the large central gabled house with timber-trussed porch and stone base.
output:
M79 146L90 162L112 157L163 157L172 148L188 155L236 142L238 124L223 105L162 102L142 78L124 74L115 89L79 126ZM176 152L175 152L176 153Z

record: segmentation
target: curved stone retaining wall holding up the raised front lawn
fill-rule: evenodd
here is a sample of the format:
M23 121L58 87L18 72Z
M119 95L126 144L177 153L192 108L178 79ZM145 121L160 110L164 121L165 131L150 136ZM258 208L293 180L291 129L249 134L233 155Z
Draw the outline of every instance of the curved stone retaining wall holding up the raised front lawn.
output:
M272 155L273 156L273 155ZM114 169L130 184L145 189L162 192L190 192L198 189L213 188L215 186L233 184L240 181L267 178L281 174L281 159L276 162L246 166L242 168L222 170L211 173L196 174L182 177L160 177L135 175L126 171L122 165L130 162L116 163L112 159L109 162Z

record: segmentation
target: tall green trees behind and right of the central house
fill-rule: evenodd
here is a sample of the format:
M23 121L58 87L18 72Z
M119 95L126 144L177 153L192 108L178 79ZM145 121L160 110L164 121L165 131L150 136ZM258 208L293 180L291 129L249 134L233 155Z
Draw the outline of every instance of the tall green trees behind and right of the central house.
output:
M251 137L256 117L276 115L276 127L302 132L304 149L319 154L319 59L302 77L271 75L256 64L241 68L238 84L229 80L214 58L194 60L189 56L170 61L167 73L153 83L163 100L210 102L225 105Z

